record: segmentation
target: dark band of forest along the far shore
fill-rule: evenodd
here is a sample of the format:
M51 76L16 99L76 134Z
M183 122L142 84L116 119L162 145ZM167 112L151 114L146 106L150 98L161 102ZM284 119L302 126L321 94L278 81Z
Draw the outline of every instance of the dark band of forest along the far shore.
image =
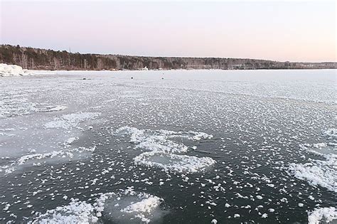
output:
M249 58L178 58L70 53L1 45L0 63L32 70L294 69L336 68L336 63L290 63Z

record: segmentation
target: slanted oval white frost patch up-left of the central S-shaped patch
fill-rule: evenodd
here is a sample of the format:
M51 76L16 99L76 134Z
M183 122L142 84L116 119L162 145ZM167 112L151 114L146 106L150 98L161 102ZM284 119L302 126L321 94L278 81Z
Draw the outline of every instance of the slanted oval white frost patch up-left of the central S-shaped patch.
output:
M77 112L73 114L65 114L60 118L55 118L53 121L46 123L44 127L70 129L72 127L77 127L80 122L84 122L88 119L95 119L99 115L99 112Z

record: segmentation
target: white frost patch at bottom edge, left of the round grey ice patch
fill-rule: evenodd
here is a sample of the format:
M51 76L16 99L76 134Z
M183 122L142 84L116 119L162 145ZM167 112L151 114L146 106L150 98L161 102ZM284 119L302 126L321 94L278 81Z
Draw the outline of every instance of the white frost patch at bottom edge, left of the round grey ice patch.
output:
M71 198L68 206L58 206L55 209L47 210L46 213L33 218L31 224L56 224L56 223L96 223L97 217L94 214L94 207L91 204Z

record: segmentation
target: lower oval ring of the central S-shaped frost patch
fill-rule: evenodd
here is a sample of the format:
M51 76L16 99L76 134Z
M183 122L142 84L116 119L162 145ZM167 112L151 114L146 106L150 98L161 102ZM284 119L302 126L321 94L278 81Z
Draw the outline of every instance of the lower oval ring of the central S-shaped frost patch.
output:
M194 173L205 171L215 164L215 160L209 157L196 157L178 154L166 154L158 151L146 151L134 158L137 165L159 167L164 171L179 173Z

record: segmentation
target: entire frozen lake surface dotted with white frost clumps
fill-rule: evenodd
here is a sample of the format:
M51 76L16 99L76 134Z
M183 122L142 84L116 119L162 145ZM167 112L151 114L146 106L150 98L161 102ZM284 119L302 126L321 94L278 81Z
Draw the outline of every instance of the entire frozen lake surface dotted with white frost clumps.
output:
M337 222L336 70L40 73L0 78L0 223Z

